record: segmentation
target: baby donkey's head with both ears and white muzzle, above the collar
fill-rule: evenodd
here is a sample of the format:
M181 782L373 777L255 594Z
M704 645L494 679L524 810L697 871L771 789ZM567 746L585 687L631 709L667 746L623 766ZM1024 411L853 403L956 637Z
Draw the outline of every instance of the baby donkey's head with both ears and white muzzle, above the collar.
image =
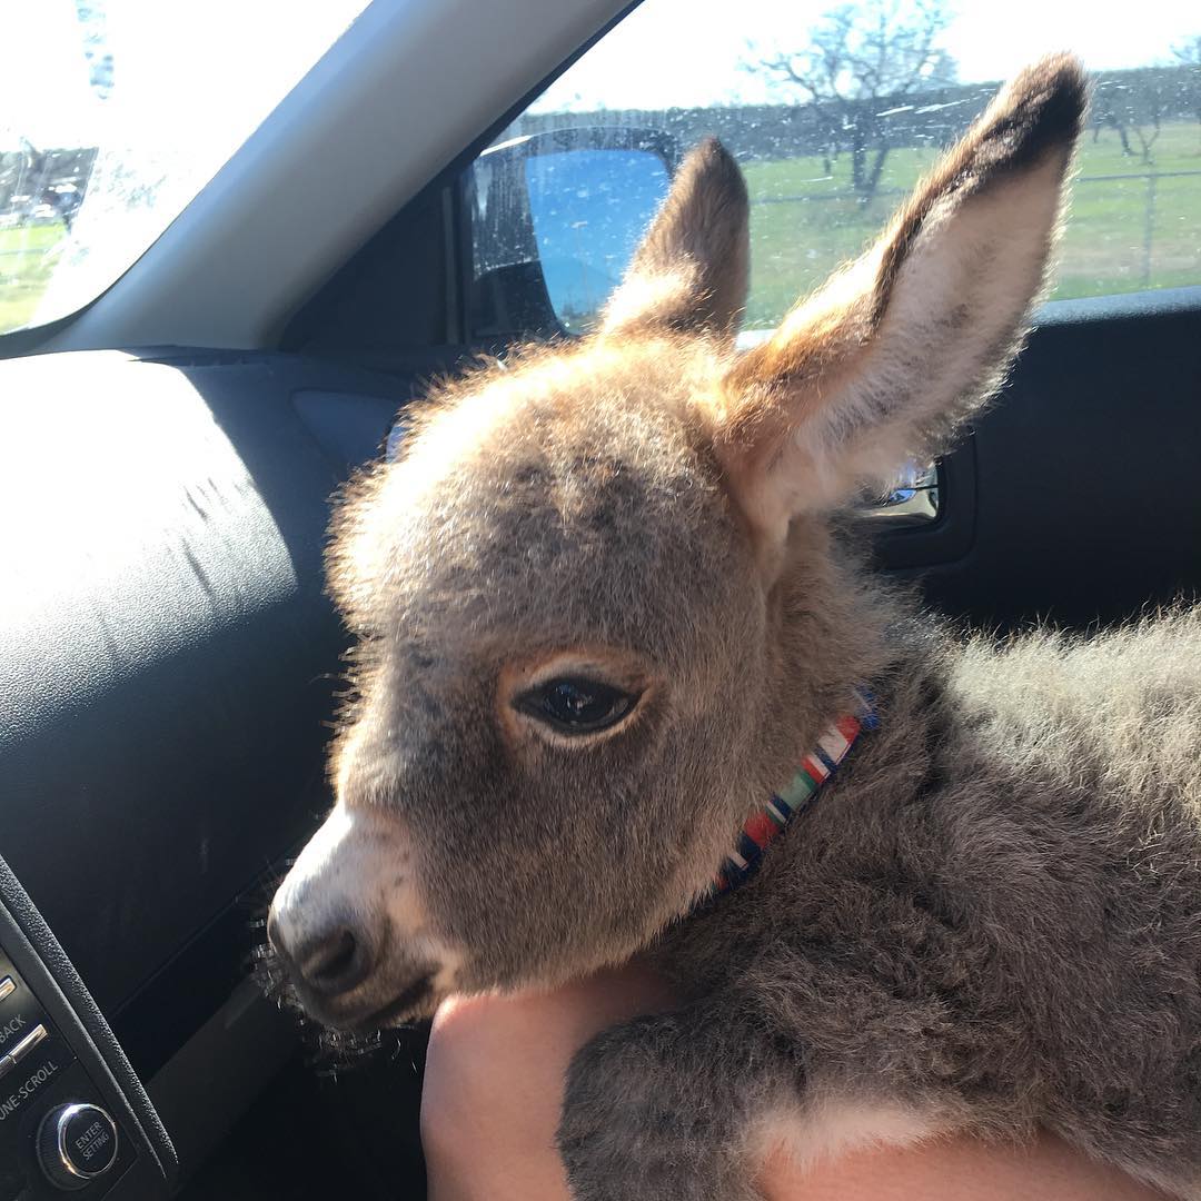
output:
M599 329L447 384L349 490L336 806L270 938L345 1027L549 986L688 912L880 661L829 514L991 394L1085 80L1017 77L859 261L735 353L747 196L685 162Z

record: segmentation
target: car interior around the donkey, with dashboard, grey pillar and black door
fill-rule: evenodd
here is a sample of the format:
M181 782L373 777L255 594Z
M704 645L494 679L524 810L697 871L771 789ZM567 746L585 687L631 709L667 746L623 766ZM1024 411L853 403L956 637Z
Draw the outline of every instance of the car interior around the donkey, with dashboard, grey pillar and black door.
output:
M480 213L579 141L472 165L634 7L368 4L106 288L0 334L0 1201L424 1195L426 1029L323 1035L252 970L331 803L330 506L426 381L575 336ZM664 180L688 141L590 137ZM859 513L878 569L997 637L1196 596L1199 335L1188 282L1047 303L970 436ZM47 1166L54 1129L100 1171Z

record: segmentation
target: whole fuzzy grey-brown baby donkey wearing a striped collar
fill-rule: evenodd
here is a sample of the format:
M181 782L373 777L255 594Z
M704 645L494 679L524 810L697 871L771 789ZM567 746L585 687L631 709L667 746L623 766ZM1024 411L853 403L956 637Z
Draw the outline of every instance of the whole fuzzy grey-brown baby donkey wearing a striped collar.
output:
M996 392L1085 98L1024 71L741 354L705 143L597 331L437 388L340 509L357 699L270 940L343 1029L649 956L679 1006L569 1071L579 1199L1039 1128L1201 1197L1201 621L998 646L833 516Z

